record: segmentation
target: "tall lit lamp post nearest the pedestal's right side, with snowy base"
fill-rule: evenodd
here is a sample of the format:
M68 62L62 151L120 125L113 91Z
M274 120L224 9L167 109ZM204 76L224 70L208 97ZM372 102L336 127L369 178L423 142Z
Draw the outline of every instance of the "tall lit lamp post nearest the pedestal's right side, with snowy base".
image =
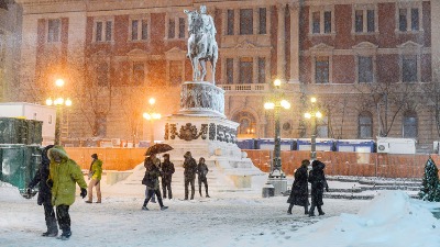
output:
M276 79L274 81L275 93L271 101L264 103L264 109L274 110L275 113L275 145L274 145L274 159L273 166L271 169L271 173L268 175L267 183L272 183L274 186L274 194L279 194L287 190L287 180L286 176L282 170L282 158L280 158L280 132L279 132L279 112L282 109L289 109L290 103L283 99L284 93L279 92L280 80ZM264 188L263 188L264 190ZM264 191L263 191L264 194Z

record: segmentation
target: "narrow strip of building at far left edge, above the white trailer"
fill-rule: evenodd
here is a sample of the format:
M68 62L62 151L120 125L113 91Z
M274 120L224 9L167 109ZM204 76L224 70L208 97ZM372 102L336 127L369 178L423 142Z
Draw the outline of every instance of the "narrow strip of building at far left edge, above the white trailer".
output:
M0 0L0 102L10 101L19 83L22 12L12 0Z

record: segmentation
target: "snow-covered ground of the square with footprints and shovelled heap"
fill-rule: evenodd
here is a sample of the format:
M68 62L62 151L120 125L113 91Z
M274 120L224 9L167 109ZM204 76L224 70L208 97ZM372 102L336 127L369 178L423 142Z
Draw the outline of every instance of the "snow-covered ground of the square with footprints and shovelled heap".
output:
M46 228L36 197L23 199L16 188L0 182L0 246L440 246L440 220L430 212L440 203L409 199L404 191L371 191L373 200L324 199L324 216L308 217L297 206L287 215L287 198L262 198L265 180L257 177L252 189L235 192L212 186L211 198L196 192L193 201L183 201L182 184L175 184L175 199L164 200L168 210L150 203L150 211L141 211L140 181L109 186L105 177L101 204L77 197L70 207L73 235L67 242L42 237Z

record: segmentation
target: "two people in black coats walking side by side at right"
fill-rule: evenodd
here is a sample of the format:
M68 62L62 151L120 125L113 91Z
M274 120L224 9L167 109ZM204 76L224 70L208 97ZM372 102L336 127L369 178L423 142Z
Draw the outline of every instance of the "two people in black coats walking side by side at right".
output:
M315 216L315 207L318 209L319 215L324 215L322 211L322 194L323 190L329 191L329 184L326 180L323 168L326 165L319 160L311 162L311 170L307 173L310 161L305 159L301 161L301 166L295 171L295 180L292 184L290 195L287 199L289 207L287 214L292 214L294 205L304 206L305 214ZM311 184L311 205L309 206L309 191L308 183Z

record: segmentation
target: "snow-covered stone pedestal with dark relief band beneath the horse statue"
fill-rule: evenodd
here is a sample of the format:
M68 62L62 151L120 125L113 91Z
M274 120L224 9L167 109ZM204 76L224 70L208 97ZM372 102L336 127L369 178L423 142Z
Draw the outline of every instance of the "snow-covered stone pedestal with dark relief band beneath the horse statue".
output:
M209 82L185 82L180 110L166 117L165 143L175 166L182 166L184 154L191 151L198 161L228 177L235 188L251 188L252 176L264 175L248 154L237 146L238 123L224 116L224 91Z

